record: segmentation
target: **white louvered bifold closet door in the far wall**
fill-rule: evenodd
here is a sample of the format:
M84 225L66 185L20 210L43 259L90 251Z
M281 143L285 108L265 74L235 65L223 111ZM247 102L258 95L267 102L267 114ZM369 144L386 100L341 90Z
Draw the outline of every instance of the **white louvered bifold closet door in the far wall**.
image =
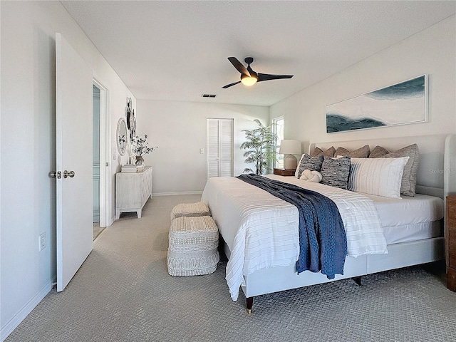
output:
M233 176L233 119L207 119L207 178Z

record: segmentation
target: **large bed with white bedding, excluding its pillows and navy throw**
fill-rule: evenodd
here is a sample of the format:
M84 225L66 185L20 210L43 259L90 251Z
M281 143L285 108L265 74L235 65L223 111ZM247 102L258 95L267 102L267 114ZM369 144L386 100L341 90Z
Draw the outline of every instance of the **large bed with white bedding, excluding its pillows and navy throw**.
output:
M453 187L452 177L447 175L450 172L445 172L445 169L450 170L454 164L455 136L323 142L310 144L309 154L316 146L328 149L337 145L356 150L368 144L371 149L380 145L388 150L397 150L413 143L420 147L417 194L413 197L387 198L307 182L297 177L266 176L310 188L323 195L329 194L328 197L336 199L334 202L341 212L346 230L347 226L351 230L347 236L365 234L360 241L368 243L367 247L360 247L358 242L351 242L351 238L347 237L348 256L343 274L336 274L333 279L328 279L321 272L297 274L299 216L293 204L236 177L209 179L204 187L202 202L208 205L224 241L224 252L229 258L226 279L232 299L237 300L240 287L247 299L247 311L251 312L254 296L261 294L346 278L359 282L366 274L445 259L443 198L452 192ZM365 205L355 212L368 212L361 221L356 222L358 218L351 217L353 209L347 207L351 205L351 197L358 202L356 205ZM369 214L372 206L377 217Z

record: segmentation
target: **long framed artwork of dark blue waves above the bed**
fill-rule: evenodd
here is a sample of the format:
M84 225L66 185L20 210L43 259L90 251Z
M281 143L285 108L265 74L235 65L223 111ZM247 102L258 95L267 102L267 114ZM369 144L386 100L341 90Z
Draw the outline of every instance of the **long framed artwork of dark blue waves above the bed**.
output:
M326 133L427 121L427 75L326 106Z

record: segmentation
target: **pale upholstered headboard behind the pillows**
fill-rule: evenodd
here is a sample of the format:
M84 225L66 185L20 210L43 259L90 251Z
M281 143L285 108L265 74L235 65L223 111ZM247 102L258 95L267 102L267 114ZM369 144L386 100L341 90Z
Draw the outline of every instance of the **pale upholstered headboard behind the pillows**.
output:
M349 140L334 142L313 142L311 153L316 146L323 150L331 146L356 150L369 145L371 150L377 145L393 151L416 143L420 150L420 164L417 172L416 191L420 194L445 198L456 194L456 135L420 135L414 137L379 138L371 140Z

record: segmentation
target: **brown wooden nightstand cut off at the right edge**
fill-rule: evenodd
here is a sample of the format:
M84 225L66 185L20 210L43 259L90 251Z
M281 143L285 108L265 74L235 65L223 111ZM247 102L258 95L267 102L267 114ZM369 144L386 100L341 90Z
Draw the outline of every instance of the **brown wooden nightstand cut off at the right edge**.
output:
M456 291L456 196L447 196L447 212L445 219L447 288L451 291Z

